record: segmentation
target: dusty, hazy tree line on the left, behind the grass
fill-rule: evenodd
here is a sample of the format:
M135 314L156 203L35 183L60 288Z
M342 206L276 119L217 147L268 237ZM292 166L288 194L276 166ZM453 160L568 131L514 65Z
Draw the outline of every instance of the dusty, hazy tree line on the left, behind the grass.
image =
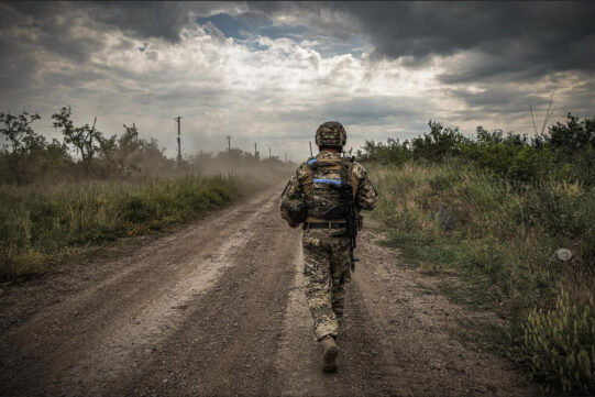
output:
M51 117L62 141L47 140L35 132L41 120L35 113L0 113L0 183L24 185L40 179L150 177L180 173L200 173L207 163L251 165L257 155L232 148L218 155L200 152L183 158L180 164L165 155L157 140L144 140L137 126L123 124L123 132L107 135L92 124L75 125L70 107L63 107ZM277 157L262 162L279 162ZM211 164L212 165L212 164ZM212 168L212 167L211 167Z

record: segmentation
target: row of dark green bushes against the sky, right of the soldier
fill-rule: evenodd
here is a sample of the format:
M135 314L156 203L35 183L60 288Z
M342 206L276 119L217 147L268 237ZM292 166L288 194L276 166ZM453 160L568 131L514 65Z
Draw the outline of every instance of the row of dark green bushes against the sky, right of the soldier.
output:
M555 178L595 186L595 119L568 113L565 122L557 122L533 136L499 129L487 131L480 125L475 137L467 137L459 128L436 121L428 125L429 133L410 141L366 141L356 156L382 164L458 157L517 185Z

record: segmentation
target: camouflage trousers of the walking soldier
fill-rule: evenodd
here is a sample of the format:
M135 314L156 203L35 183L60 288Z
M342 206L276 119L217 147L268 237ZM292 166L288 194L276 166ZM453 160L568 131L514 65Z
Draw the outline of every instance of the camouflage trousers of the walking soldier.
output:
M350 241L332 236L337 230L313 229L302 233L306 300L313 318L317 340L339 337L345 284L351 278Z

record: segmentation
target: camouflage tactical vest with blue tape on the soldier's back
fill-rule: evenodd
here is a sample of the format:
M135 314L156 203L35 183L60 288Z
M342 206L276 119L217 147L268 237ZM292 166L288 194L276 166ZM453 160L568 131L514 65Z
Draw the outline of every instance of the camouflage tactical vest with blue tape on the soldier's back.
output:
M339 207L340 194L332 186L351 184L353 199L357 192L360 180L353 175L353 162L344 157L316 158L307 162L309 173L300 179L308 207L307 222L344 221L345 216L332 213Z

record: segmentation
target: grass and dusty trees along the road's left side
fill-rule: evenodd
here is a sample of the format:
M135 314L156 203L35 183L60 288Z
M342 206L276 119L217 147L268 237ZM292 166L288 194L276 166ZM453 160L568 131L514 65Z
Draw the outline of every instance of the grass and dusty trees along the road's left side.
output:
M134 124L106 137L52 115L63 141L48 142L36 114L0 114L0 280L51 271L120 238L174 230L279 179L277 157L236 148L179 164Z

